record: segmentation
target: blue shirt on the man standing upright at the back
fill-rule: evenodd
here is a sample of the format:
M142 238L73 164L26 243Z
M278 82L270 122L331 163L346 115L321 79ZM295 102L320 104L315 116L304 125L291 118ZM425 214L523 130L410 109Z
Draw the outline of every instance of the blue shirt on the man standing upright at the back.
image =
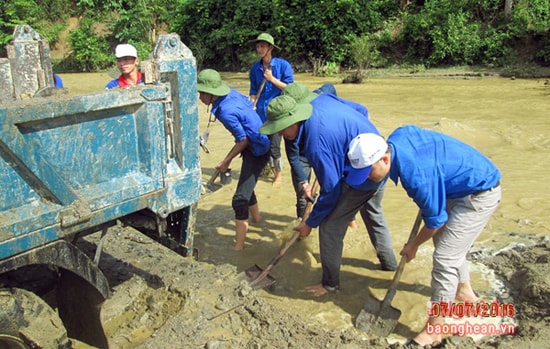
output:
M271 72L274 77L281 80L285 84L294 82L294 73L292 66L286 60L278 57L271 58ZM256 102L256 112L260 115L262 123L267 120L267 104L273 98L281 94L275 85L266 81L263 91L258 96L260 85L264 79L264 68L262 61L257 61L252 65L250 69L250 95L256 95L258 102Z

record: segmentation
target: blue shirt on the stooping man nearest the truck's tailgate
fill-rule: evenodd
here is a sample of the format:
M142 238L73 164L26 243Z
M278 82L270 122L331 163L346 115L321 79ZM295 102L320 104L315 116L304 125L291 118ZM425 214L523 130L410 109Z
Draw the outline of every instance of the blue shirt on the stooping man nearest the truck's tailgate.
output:
M229 94L219 97L212 104L212 113L231 132L236 142L248 137L248 149L254 156L269 151L269 138L259 132L262 121L252 109L248 97L231 89Z

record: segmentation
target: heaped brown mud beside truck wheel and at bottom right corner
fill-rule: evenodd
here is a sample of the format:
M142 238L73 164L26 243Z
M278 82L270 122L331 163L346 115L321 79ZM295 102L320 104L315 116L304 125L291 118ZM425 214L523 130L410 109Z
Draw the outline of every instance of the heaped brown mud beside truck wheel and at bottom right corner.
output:
M90 241L95 239L89 237ZM252 290L231 264L183 258L131 229L112 229L100 267L113 286L102 317L112 348L402 348L349 328L328 330L300 309ZM516 307L515 335L478 343L451 337L444 348L545 348L549 335L550 240L472 258L504 281L500 301ZM277 287L277 284L274 285Z

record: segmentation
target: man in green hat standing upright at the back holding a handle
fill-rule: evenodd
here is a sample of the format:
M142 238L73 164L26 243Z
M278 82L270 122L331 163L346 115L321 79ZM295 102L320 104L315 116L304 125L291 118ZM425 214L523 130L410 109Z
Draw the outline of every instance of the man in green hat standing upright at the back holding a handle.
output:
M265 122L266 110L269 101L281 94L287 84L294 81L294 72L288 61L280 57L273 57L273 50L280 49L275 45L273 36L268 33L261 33L255 40L252 40L256 47L256 53L260 60L252 65L249 73L250 79L250 100L260 115L262 122ZM271 158L269 165L273 171L273 184L280 184L282 181L283 158L281 155L281 137L270 136Z

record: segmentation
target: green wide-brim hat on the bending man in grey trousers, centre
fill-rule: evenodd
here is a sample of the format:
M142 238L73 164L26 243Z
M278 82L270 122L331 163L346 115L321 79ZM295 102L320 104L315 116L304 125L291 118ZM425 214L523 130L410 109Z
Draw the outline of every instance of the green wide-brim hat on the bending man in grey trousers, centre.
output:
M296 103L290 96L278 96L267 105L267 121L260 127L266 135L278 133L300 121L309 119L313 106L309 103Z

